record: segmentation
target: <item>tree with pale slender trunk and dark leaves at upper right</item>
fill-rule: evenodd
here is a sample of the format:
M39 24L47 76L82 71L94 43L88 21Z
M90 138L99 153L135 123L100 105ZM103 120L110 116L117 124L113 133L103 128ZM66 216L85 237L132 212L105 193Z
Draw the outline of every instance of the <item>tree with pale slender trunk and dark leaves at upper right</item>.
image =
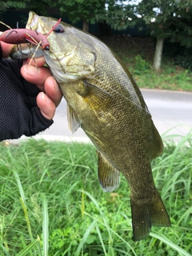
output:
M192 46L191 0L142 0L138 4L138 14L150 27L150 33L157 38L154 53L154 70L161 69L162 48L165 38Z

